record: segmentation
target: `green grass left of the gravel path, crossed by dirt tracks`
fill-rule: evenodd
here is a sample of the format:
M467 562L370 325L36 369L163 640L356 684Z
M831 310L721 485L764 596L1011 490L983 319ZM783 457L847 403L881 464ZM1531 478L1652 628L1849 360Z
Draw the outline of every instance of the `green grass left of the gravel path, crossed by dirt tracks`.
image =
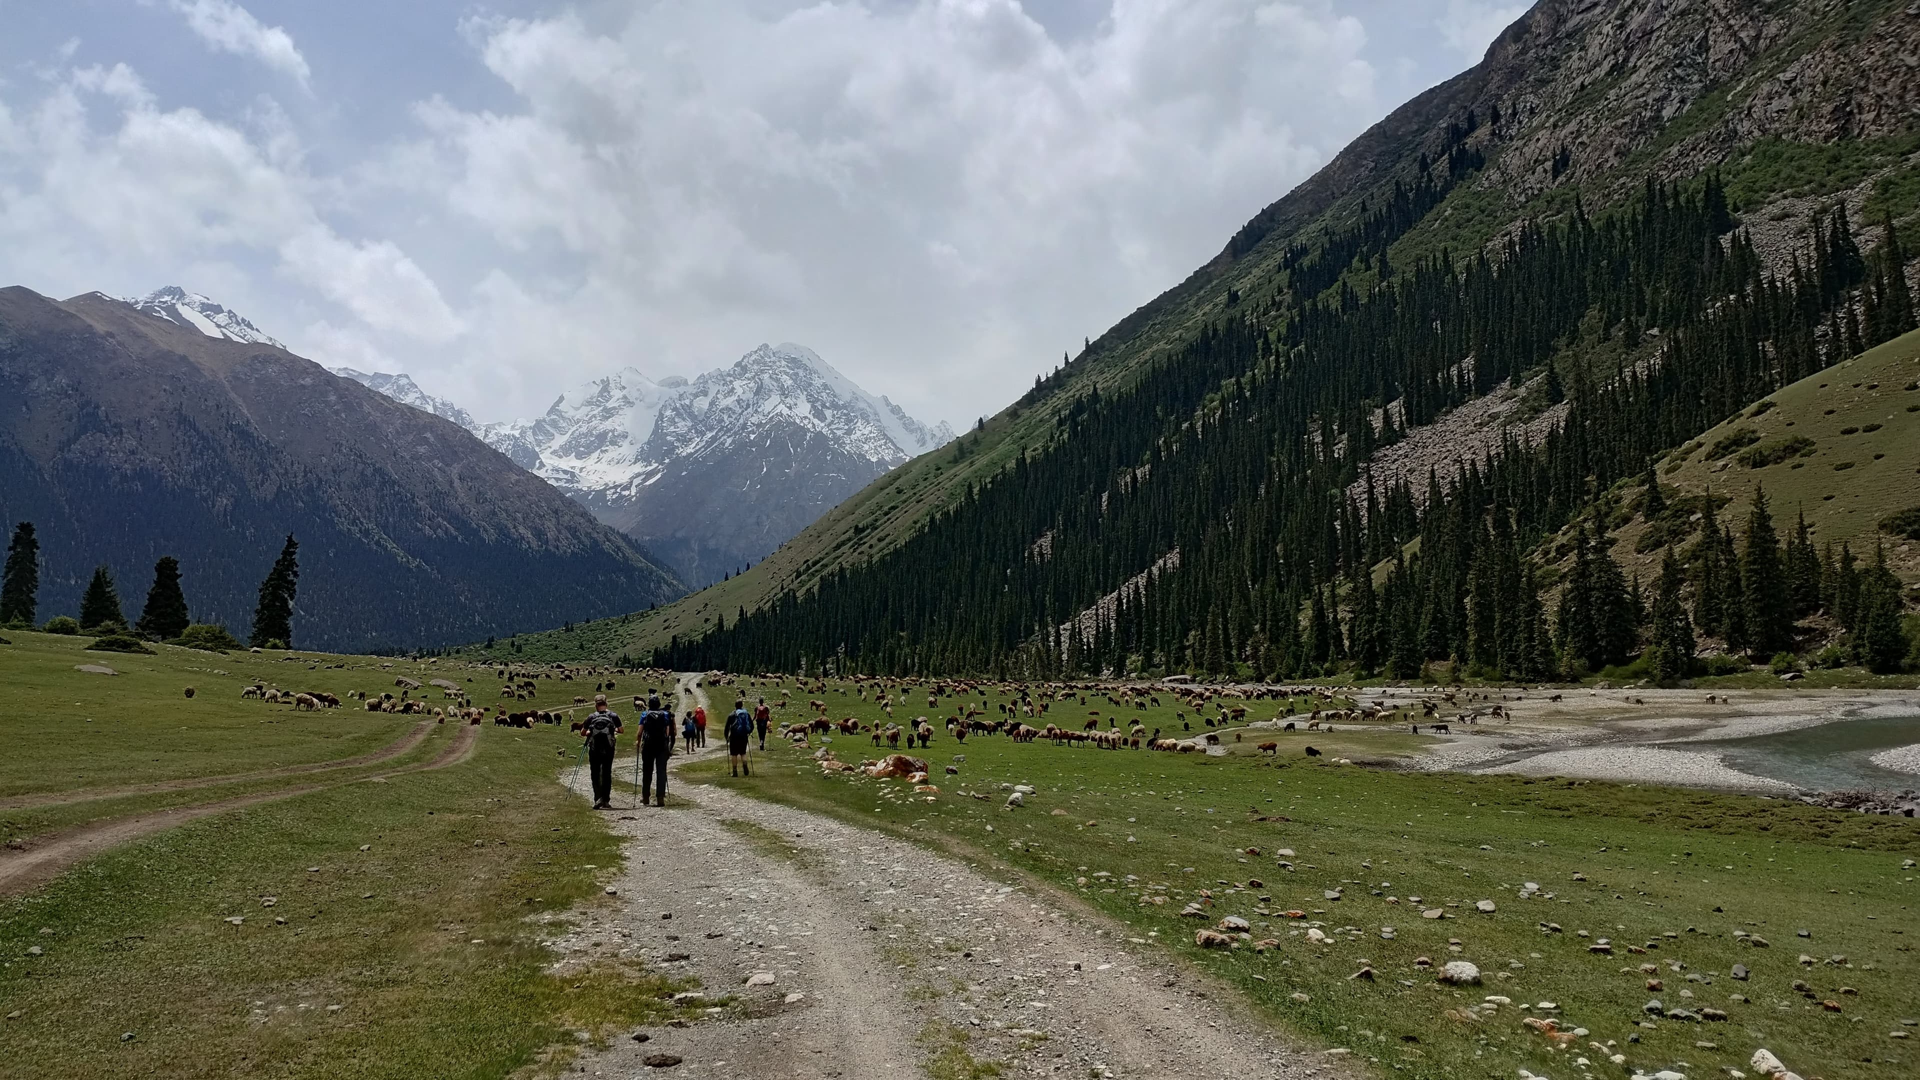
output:
M419 719L238 698L255 673L336 693L392 687L376 658L102 656L79 652L84 639L10 637L0 737L36 756L0 765L15 792L351 756ZM123 675L79 673L81 662ZM490 673L470 675L497 689ZM188 683L202 691L192 702ZM549 696L561 694L570 700L572 685ZM324 779L321 790L157 833L0 900L0 1076L553 1072L580 1032L605 1038L670 1015L662 994L676 986L616 961L557 976L540 948L559 932L541 919L609 902L599 882L620 861L586 806L553 783L574 739L486 725L465 763L397 771L459 731L438 725L382 769L303 775ZM35 762L73 773L36 777ZM269 787L83 806L111 817L152 798ZM0 817L10 813L25 811Z

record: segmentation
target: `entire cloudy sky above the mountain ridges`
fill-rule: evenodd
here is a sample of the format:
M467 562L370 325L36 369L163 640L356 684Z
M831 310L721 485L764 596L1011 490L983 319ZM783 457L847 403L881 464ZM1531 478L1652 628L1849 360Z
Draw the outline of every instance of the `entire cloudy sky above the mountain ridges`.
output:
M0 284L180 284L486 420L799 341L958 428L1523 10L0 0Z

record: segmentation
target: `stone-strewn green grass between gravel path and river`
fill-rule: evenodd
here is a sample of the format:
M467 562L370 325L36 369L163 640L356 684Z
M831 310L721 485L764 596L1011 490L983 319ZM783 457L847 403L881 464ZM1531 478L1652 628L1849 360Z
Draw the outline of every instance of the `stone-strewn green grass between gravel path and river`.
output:
M845 693L826 700L833 717L877 716ZM941 731L925 752L935 796L824 777L810 752L772 744L753 779L707 763L689 773L1025 873L1377 1070L1711 1076L1747 1068L1764 1045L1803 1076L1914 1074L1910 1042L1893 1032L1920 1034L1903 1024L1920 1021L1916 823L1655 787L1361 769L1309 762L1306 742L1321 744L1288 737L1275 760L1248 740L1206 758L998 737L958 746ZM874 754L864 737L829 746ZM943 777L962 756L958 777ZM1039 790L1004 810L1002 783ZM1540 888L1523 898L1526 882ZM1194 902L1204 917L1183 917ZM1442 917L1423 917L1434 909ZM1194 930L1225 915L1279 946L1196 948ZM1309 944L1309 928L1329 942ZM1601 938L1611 955L1590 951ZM1442 986L1421 957L1469 959L1484 984ZM1749 978L1734 978L1736 963ZM1371 980L1354 978L1363 967ZM1488 996L1511 1003L1478 1007ZM1726 1019L1651 1017L1651 999ZM1523 1017L1586 1034L1555 1051Z

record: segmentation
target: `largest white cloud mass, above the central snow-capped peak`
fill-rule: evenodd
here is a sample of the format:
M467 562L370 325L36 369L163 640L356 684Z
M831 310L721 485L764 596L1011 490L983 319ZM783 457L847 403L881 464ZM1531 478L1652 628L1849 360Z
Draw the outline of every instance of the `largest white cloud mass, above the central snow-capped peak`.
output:
M513 109L430 100L390 180L511 251L570 347L476 334L505 395L806 341L972 420L1185 276L1379 115L1331 0L1116 0L1062 42L1018 0L649 4L467 23ZM568 376L551 374L564 355Z

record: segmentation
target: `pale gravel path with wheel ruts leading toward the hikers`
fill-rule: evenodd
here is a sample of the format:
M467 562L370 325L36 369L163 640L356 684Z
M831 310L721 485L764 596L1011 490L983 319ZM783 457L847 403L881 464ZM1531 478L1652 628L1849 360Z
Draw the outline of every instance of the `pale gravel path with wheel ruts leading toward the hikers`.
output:
M1248 1022L1231 990L1150 957L1071 898L908 842L707 785L674 785L664 810L614 811L609 825L630 836L618 902L566 917L574 927L549 942L561 969L632 955L737 1001L586 1051L586 1074L651 1072L660 1053L684 1059L674 1074L751 1078L922 1076L943 1051L1006 1076L1329 1068Z

